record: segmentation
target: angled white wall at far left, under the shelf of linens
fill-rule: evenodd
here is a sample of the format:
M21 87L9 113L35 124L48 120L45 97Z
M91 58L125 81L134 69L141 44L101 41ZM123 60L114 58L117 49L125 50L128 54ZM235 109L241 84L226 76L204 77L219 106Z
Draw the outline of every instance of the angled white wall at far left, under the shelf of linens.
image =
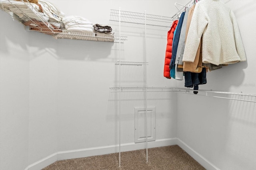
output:
M1 11L0 169L25 169L57 152L58 65L52 40L25 31Z

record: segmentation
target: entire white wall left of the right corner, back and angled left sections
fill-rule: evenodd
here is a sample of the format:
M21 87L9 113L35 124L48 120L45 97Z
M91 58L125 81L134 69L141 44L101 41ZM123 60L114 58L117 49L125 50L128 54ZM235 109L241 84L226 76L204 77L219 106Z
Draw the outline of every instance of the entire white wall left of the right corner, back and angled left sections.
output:
M110 9L172 16L169 0L49 0L67 16L110 24ZM180 3L186 4L187 0ZM160 9L160 10L158 10ZM118 44L53 39L25 31L0 12L1 20L1 169L24 169L58 151L118 144ZM121 45L121 61L144 61L143 27L121 27L128 41ZM147 30L148 86L176 86L163 77L166 35ZM145 86L144 66L121 68L122 86ZM14 83L15 82L15 83ZM144 107L144 93L123 93L122 140L134 142L134 107ZM152 92L148 106L156 107L156 139L177 136L176 94ZM118 150L116 150L118 152ZM13 164L13 162L16 162Z

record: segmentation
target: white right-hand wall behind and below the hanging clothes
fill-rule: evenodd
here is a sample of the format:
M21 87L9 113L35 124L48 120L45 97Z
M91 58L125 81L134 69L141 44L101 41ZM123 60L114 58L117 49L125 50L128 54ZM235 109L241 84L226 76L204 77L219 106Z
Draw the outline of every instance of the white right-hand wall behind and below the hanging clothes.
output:
M247 61L208 72L199 88L256 94L256 1L224 2L236 15ZM255 113L252 102L178 94L178 139L221 170L255 169Z

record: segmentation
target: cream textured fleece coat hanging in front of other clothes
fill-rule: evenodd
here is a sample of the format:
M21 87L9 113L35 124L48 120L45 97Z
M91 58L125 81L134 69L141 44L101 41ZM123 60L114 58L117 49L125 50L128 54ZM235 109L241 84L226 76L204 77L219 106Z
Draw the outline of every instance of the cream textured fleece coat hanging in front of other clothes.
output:
M220 0L202 0L196 4L183 62L194 62L201 37L203 63L219 65L246 61L234 13Z

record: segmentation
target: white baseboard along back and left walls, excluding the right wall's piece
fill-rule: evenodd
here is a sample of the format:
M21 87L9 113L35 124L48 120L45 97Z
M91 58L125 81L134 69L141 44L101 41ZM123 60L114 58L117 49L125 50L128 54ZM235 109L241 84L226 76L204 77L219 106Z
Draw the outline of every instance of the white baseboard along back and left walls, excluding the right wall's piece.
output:
M160 139L156 141L148 142L148 148L156 148L156 147L165 147L170 145L177 145L177 138L168 138L168 139ZM131 150L139 150L145 149L146 143L126 143L121 144L121 152L131 151ZM41 170L46 166L56 162L57 160L65 160L65 159L74 159L74 158L83 158L88 156L96 156L102 154L110 154L119 152L119 145L110 145L104 147L94 147L87 149L78 149L78 150L67 150L62 152L56 152L39 160L31 165L29 165L25 170Z

